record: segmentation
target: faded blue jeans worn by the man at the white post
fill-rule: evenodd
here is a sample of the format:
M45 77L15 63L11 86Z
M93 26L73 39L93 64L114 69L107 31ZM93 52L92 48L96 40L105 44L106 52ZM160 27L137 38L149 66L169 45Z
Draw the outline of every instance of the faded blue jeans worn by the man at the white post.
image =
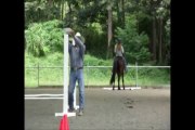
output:
M70 70L69 75L69 87L68 87L68 105L69 108L74 106L74 90L76 86L76 81L78 81L79 87L79 108L83 109L84 107L84 81L83 81L83 69Z

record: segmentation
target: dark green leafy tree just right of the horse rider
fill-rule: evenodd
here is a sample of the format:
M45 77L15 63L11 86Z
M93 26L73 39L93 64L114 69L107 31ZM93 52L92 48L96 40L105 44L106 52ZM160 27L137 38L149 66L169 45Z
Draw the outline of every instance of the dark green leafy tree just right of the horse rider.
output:
M148 37L145 32L138 32L135 16L128 17L125 28L118 27L116 34L122 41L128 63L139 62L142 64L150 61Z

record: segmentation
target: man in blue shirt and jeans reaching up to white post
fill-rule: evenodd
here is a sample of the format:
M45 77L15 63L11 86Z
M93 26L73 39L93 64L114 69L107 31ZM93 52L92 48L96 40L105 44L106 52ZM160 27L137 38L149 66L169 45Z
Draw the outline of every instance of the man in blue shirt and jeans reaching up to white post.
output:
M70 73L69 73L69 87L68 87L68 112L74 112L74 90L76 81L79 87L79 116L83 115L84 108L84 81L83 81L83 57L86 46L81 40L80 32L75 35L70 29L68 35L73 37L73 42L68 44L69 60L70 60Z

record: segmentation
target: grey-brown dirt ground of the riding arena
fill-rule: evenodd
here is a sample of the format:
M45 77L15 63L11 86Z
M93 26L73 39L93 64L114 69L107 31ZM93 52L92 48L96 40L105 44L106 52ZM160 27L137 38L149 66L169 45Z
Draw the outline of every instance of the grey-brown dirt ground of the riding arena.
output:
M25 89L25 95L41 93L63 94L63 89ZM25 130L58 130L62 117L55 113L62 110L63 100L25 99ZM170 130L170 88L89 88L84 115L68 121L70 130Z

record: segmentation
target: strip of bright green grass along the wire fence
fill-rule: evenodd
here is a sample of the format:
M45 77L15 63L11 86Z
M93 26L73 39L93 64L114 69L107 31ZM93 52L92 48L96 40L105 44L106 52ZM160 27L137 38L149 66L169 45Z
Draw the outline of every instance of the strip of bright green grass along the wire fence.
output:
M39 70L38 70L39 64ZM90 68L87 66L112 66L113 60L100 60L90 55L84 56L84 84L86 86L109 86L112 68ZM34 68L29 68L29 67ZM42 68L42 67L56 68ZM58 67L57 67L58 66ZM63 54L54 53L46 57L37 58L25 54L25 88L40 86L63 86ZM135 68L129 68L125 76L126 86L135 86ZM39 80L38 80L39 77ZM117 77L116 77L117 78ZM115 81L117 84L117 79ZM165 86L170 84L169 68L139 68L139 86Z

